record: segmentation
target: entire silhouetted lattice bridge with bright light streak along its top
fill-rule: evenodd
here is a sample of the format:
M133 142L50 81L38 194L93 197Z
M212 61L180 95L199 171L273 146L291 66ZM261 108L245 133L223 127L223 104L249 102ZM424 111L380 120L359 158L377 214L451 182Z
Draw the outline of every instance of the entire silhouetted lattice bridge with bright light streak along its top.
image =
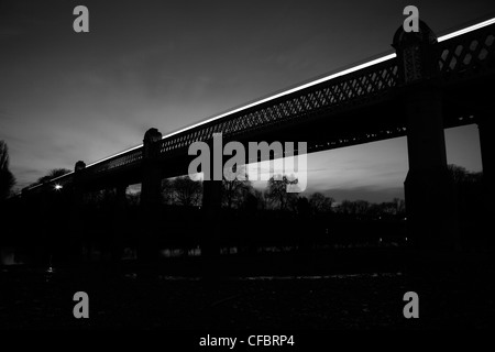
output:
M406 135L410 231L429 245L449 245L458 227L446 128L479 125L486 194L494 194L494 41L495 19L440 37L421 21L417 33L400 26L391 54L165 136L150 129L142 145L87 166L78 162L70 174L24 188L22 198L41 197L55 185L77 199L88 190L125 193L128 185L141 183L141 205L151 209L160 201L163 178L188 173L189 145L211 143L213 133L222 133L224 143L304 141L308 153ZM221 183L204 187L204 209L215 213Z

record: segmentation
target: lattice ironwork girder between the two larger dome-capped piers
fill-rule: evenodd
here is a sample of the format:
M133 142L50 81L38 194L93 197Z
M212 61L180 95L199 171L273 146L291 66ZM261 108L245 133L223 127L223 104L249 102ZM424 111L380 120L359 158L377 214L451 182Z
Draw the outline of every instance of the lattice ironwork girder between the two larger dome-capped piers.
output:
M398 68L396 59L392 58L164 139L161 153L188 147L196 141L208 141L217 132L234 136L314 113L345 109L386 95L397 82Z

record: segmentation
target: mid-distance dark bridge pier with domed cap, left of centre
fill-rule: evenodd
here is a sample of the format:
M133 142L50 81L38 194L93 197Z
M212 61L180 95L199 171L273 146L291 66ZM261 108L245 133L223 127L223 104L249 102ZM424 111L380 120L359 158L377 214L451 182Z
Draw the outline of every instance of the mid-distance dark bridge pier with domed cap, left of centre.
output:
M143 232L138 240L138 257L143 261L158 258L158 222L162 204L162 169L158 162L162 133L150 129L143 140L143 164L141 184L141 211Z

